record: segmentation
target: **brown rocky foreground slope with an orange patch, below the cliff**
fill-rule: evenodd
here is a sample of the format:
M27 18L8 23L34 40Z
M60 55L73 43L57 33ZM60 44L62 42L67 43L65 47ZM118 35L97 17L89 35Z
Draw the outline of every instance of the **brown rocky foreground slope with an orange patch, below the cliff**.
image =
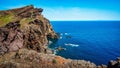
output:
M24 48L18 52L5 54L2 59L0 58L2 68L96 68L95 64L84 60L64 59Z

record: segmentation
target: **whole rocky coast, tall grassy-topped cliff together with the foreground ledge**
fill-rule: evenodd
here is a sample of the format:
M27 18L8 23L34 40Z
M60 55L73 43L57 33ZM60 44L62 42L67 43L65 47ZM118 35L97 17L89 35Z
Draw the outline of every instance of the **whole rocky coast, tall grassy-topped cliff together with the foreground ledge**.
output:
M119 58L96 66L54 55L48 44L58 35L42 12L33 5L0 11L0 68L120 68Z

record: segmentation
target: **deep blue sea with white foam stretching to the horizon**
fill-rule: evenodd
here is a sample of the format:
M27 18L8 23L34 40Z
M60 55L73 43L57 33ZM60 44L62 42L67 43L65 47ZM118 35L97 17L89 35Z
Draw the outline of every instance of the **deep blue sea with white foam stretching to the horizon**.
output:
M60 39L49 47L64 47L56 55L97 65L120 57L120 21L51 21Z

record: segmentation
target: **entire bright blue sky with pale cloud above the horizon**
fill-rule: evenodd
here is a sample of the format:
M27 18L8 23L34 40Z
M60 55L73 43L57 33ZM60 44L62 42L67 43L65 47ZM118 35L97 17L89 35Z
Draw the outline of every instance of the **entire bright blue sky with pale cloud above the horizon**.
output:
M1 0L0 10L31 4L51 21L120 20L120 0Z

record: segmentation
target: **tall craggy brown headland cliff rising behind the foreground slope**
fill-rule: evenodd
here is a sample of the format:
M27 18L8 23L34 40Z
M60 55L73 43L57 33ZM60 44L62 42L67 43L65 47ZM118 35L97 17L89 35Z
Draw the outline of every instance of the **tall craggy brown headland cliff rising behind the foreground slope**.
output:
M47 48L47 38L57 39L57 35L50 22L41 15L42 11L43 9L34 8L32 5L0 11L1 16L12 14L17 20L10 20L0 28L0 54L16 51L22 47L37 52L50 52Z

